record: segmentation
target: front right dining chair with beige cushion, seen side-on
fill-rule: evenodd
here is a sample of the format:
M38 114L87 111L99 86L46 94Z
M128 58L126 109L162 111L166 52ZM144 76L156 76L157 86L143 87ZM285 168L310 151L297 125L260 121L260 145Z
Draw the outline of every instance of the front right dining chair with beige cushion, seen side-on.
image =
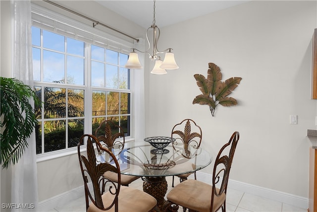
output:
M182 206L189 209L189 212L216 212L220 208L225 212L229 172L238 141L239 132L234 132L219 150L213 166L211 185L192 179L178 184L167 194L163 211L177 212L179 206Z

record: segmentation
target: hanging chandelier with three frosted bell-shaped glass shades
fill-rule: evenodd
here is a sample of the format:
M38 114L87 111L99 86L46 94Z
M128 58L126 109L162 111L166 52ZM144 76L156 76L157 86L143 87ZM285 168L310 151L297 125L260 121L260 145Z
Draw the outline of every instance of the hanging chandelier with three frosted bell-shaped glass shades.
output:
M177 66L175 59L174 59L174 54L171 52L171 48L165 49L164 51L159 51L158 50L158 41L159 41L159 27L155 24L155 0L154 0L154 5L153 5L153 24L148 28L146 37L148 40L149 48L143 52L138 49L132 48L132 52L129 54L129 59L127 64L125 65L126 68L128 69L142 69L142 65L139 61L138 54L135 52L141 52L141 53L147 53L149 55L149 58L155 62L154 68L151 71L153 74L165 74L167 73L166 70L175 70L178 69L179 67ZM149 34L152 33L152 42L150 43L149 40ZM149 52L151 48L151 52ZM157 54L162 54L165 53L164 60L161 61L160 57Z

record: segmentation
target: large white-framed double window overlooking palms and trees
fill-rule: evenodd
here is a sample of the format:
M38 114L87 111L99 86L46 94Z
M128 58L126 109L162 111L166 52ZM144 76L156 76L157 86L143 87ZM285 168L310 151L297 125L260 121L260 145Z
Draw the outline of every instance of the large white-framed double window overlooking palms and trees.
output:
M33 78L43 102L35 108L37 154L77 146L83 134L93 134L105 119L131 136L131 76L124 68L128 51L122 51L121 44L121 48L106 45L108 40L86 31L67 36L71 26L64 31L47 27L48 20L36 14L32 16L37 17L32 26Z

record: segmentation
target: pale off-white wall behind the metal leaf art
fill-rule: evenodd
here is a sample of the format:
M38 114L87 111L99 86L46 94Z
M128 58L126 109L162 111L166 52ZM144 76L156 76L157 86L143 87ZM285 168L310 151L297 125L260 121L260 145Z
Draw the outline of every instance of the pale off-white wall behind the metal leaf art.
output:
M170 135L176 123L191 118L215 156L239 131L231 179L308 197L316 3L251 1L162 28L159 48L173 48L180 69L149 76L146 136ZM193 75L207 77L210 62L220 67L222 80L242 77L229 95L238 105L219 105L214 117L208 106L192 104L201 94ZM297 115L297 125L290 125L290 115ZM211 174L211 168L202 171Z

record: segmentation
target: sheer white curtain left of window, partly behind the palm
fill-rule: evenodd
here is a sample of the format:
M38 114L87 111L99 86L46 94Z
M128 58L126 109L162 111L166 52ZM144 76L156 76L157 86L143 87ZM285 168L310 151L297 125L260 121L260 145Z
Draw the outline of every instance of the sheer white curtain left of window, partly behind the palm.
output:
M33 87L31 2L30 0L11 0L11 5L14 12L12 75ZM26 207L29 209L23 209L23 211L36 211L38 184L35 132L28 139L28 144L28 148L25 149L18 163L12 166L11 201L16 204L29 204Z

